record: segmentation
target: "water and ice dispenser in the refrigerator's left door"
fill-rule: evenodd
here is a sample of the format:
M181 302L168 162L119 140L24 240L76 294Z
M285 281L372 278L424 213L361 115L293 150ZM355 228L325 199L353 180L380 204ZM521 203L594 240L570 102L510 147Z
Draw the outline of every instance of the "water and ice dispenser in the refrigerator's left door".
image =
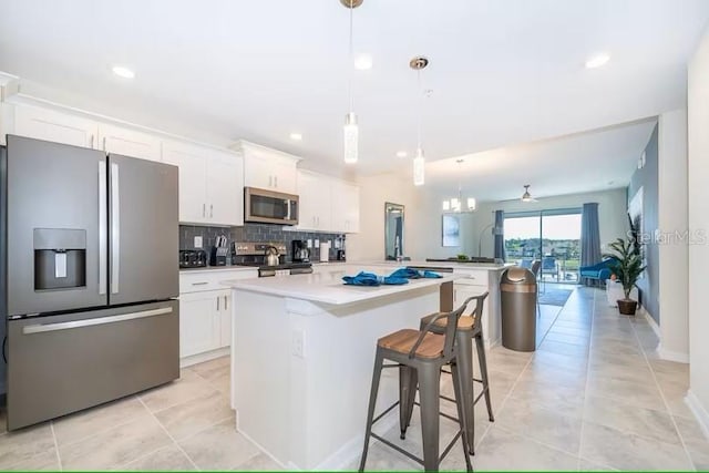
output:
M86 286L86 230L34 228L34 290Z

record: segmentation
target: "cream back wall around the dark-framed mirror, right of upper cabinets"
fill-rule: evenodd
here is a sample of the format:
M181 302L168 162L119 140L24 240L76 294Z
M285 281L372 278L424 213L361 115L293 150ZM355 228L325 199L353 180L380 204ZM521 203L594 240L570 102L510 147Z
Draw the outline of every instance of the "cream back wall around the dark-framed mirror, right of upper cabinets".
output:
M395 173L363 177L360 185L360 233L347 237L347 259L384 259L384 203L404 208L404 256L412 259L446 258L472 254L474 214L461 215L461 246L444 248L441 241L441 203L425 186L417 187L411 177Z

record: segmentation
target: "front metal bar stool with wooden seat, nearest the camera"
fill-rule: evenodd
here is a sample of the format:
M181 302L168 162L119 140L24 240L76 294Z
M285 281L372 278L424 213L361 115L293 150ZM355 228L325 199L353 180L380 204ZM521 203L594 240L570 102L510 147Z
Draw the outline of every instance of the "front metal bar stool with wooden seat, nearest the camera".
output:
M470 300L470 299L469 299ZM439 464L451 451L459 438L462 438L465 465L467 471L472 471L467 453L467 429L465 426L465 415L462 411L462 403L458 405L458 419L460 430L444 449L439 457L439 413L441 393L441 368L451 364L453 374L453 389L455 398L461 397L461 374L459 366L455 363L458 357L458 320L465 310L469 300L460 308L444 313L436 313L431 321L421 330L403 329L380 338L377 341L377 354L374 359L374 372L372 374L372 387L369 395L369 410L367 413L367 430L364 433L364 446L359 471L364 470L367 453L369 451L370 436L379 440L383 444L407 455L411 460L421 463L425 471L438 471ZM431 332L432 327L440 322L443 325L442 335ZM395 364L384 364L384 359L393 361ZM379 391L379 380L383 368L399 368L399 401L394 402L384 412L374 419L374 407L377 404L377 393ZM400 421L409 423L413 411L413 401L419 387L419 398L421 400L421 435L423 438L423 460L414 456L410 452L389 442L372 432L374 422L383 418L392 409L399 405Z

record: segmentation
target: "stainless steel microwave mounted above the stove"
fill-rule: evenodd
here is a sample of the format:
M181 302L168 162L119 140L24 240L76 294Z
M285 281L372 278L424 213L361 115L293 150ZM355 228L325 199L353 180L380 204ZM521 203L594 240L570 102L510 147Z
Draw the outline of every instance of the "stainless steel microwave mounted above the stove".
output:
M298 196L244 187L244 222L298 225Z

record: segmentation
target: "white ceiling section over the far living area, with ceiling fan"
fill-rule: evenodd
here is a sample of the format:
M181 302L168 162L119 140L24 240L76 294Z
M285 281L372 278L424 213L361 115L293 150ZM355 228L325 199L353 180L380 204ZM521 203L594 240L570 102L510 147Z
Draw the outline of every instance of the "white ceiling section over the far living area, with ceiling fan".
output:
M481 202L535 198L625 187L657 120L612 126L517 146L440 160L427 167L427 187ZM463 160L458 163L458 160Z

